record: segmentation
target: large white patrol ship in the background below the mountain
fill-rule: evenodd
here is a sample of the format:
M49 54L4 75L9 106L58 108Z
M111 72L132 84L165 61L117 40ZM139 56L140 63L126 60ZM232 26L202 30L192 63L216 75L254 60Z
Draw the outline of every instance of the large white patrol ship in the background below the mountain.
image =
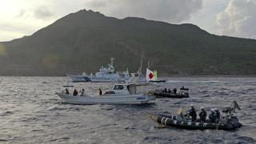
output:
M110 58L110 61L108 68L101 66L95 75L83 73L68 76L72 79L72 82L125 82L130 78L128 69L123 71L122 74L114 72L114 58Z

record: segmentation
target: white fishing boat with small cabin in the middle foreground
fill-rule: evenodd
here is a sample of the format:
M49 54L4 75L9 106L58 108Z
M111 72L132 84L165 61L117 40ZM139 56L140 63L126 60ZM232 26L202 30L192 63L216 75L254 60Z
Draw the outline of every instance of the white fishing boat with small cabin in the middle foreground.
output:
M73 96L57 93L63 102L71 104L146 104L154 103L154 96L138 94L134 84L116 84L112 90L107 90L98 96Z

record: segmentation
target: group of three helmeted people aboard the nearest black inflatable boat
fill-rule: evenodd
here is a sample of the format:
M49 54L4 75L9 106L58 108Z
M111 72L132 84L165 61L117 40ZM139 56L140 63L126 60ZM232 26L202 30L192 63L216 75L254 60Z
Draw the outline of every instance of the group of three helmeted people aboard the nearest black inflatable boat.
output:
M197 112L196 110L194 109L194 105L190 105L191 106L191 109L189 110L188 114L186 114L185 116L190 118L191 117L191 121L192 122L206 122L206 116L207 116L207 113L206 113L206 110L203 106L200 107L200 113L199 113L199 120L197 121ZM210 115L209 115L209 120L210 122L219 122L219 119L221 117L221 114L220 112L218 111L217 108L213 108L213 109L210 109Z

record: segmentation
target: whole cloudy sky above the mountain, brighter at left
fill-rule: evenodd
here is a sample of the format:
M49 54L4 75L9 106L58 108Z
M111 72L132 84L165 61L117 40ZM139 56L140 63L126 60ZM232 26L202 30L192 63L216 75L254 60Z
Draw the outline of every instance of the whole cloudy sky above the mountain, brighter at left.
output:
M256 39L256 0L0 0L0 42L31 35L82 9L193 23L210 34Z

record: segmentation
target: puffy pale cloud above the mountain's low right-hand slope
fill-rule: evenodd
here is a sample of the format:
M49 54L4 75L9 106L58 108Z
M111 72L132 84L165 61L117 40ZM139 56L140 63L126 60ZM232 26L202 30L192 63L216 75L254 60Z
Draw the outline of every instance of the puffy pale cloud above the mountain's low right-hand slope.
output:
M256 1L230 0L226 10L217 15L221 34L256 38Z

